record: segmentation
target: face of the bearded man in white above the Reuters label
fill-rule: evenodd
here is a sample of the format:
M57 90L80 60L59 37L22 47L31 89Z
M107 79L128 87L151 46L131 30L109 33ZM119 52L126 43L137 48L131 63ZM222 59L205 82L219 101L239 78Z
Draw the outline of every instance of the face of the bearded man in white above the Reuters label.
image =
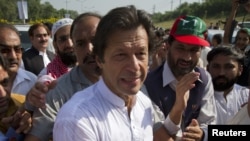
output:
M209 62L207 70L212 76L214 89L225 91L236 83L242 73L242 66L230 56L219 54Z

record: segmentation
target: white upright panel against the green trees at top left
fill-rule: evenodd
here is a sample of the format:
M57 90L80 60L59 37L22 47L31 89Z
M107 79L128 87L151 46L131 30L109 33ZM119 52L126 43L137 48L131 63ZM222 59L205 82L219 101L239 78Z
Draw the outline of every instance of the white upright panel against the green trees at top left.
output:
M20 19L28 19L27 1L17 1L18 14Z

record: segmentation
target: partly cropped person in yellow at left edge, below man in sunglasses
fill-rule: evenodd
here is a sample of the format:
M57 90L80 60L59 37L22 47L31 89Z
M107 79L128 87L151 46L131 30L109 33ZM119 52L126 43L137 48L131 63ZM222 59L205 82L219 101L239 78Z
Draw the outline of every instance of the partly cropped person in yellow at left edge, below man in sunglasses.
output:
M9 64L5 59L0 54L0 139L23 141L31 127L31 115L22 106L25 96L10 93Z

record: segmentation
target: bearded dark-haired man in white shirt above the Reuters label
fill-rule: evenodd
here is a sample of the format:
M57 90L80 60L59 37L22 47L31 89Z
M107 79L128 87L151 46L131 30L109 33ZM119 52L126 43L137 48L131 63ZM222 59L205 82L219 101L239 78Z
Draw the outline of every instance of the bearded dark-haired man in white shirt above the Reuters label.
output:
M244 56L235 48L213 48L207 55L217 108L217 124L225 124L248 102L249 89L236 84Z

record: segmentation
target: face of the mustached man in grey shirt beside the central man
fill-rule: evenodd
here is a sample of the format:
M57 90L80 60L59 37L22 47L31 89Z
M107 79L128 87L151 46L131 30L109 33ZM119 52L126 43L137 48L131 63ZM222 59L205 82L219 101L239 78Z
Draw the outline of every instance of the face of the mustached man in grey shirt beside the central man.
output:
M72 32L77 61L85 75L97 75L96 72L99 70L92 54L92 40L99 21L97 17L86 17L75 25Z

